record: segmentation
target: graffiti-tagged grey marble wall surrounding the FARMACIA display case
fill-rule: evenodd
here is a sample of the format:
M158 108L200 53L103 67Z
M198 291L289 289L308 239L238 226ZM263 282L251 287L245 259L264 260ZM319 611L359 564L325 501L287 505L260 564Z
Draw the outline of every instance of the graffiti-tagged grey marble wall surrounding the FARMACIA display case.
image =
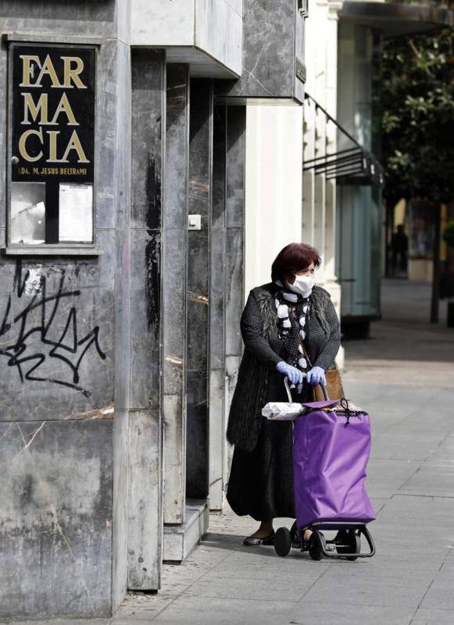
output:
M94 225L103 252L0 256L1 620L111 612L117 219L128 202L121 151L127 105L119 83L130 70L116 24L122 4L0 3L1 33L62 43L98 38L95 141L102 158L95 163ZM3 39L3 153L7 56ZM6 176L3 159L1 180ZM0 184L2 245L5 190ZM120 586L124 592L124 581Z

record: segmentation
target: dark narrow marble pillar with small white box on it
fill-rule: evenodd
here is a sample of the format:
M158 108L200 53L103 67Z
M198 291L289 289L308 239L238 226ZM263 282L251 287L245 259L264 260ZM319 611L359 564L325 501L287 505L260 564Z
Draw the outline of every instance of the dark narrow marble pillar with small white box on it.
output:
M187 497L208 496L208 320L212 199L212 81L194 78L190 95L189 213L201 230L188 233Z

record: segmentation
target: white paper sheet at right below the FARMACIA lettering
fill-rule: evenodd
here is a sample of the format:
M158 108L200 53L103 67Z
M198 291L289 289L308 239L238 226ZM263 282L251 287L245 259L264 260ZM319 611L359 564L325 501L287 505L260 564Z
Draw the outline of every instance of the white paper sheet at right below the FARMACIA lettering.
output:
M93 241L93 185L60 183L58 185L60 242Z

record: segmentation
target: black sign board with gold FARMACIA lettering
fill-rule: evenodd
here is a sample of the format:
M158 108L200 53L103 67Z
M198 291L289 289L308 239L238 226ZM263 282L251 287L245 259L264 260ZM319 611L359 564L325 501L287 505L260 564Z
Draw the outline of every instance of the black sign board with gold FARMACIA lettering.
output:
M93 182L94 67L94 48L12 47L13 182Z

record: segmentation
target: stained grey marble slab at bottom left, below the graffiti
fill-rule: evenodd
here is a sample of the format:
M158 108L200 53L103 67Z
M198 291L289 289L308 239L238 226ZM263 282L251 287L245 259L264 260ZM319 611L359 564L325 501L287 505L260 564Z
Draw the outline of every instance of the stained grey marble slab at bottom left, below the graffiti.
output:
M96 417L0 423L2 620L110 613L112 413Z

